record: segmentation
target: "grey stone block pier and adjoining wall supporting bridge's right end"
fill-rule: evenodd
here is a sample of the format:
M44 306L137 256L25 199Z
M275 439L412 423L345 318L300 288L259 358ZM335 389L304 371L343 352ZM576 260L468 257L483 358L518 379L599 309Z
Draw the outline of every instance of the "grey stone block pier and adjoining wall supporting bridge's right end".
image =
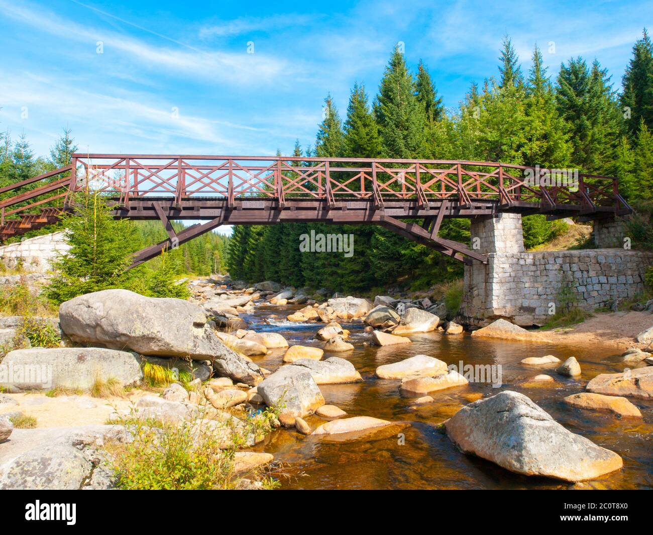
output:
M472 223L472 240L481 238L481 252L489 254L488 264L465 267L460 314L468 323L486 325L503 317L518 325L541 325L551 304L560 310L562 293L571 293L578 306L592 310L643 291L653 253L622 248L525 253L517 218L503 214ZM500 240L512 251L502 251Z

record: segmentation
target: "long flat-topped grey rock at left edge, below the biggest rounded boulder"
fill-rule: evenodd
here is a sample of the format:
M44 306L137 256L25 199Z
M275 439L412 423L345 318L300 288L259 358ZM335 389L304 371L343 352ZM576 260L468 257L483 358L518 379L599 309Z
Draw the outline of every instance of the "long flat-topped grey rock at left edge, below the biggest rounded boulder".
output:
M121 385L133 385L143 378L138 357L106 348L16 349L7 353L2 363L14 376L0 386L18 389L89 389L96 380L116 379ZM17 375L26 367L36 373Z

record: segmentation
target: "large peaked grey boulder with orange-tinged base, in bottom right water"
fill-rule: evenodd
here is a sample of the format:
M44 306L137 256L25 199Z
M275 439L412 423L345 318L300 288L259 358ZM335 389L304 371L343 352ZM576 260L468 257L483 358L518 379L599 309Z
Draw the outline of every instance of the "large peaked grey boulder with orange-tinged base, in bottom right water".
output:
M568 431L513 391L470 403L445 421L445 429L465 453L526 476L582 481L623 466L619 455Z

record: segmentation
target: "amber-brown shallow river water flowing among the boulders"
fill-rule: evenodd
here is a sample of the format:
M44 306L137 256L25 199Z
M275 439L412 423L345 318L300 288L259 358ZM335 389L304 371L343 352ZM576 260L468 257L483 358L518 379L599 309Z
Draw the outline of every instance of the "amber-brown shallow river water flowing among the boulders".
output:
M289 344L319 346L313 340L322 323L296 324L285 316L298 306L261 306L254 314L243 316L255 331L274 331L285 336ZM279 320L272 324L264 319L272 314ZM406 429L390 427L361 440L327 442L324 438L303 436L295 430L279 430L257 449L274 454L284 463L281 478L289 489L566 489L569 483L547 478L513 474L492 462L464 455L437 429L461 405L466 396L481 393L494 395L515 390L532 398L541 408L572 432L589 438L599 446L616 451L624 459L624 468L605 478L582 486L598 489L653 488L653 402L631 400L643 413L641 419L617 419L605 413L581 411L562 402L562 398L584 391L584 385L600 373L622 372L626 365L616 361L609 348L591 346L556 346L529 342L511 342L473 338L469 334L445 335L441 332L409 336L412 344L384 348L363 346L366 336L362 323L341 322L351 331L355 346L347 353L325 353L323 358L345 358L363 378L360 383L321 385L328 404L345 410L350 416L367 415L392 421L408 422ZM281 366L283 349L273 349L253 360L268 370ZM381 380L374 376L377 366L394 363L413 355L436 357L447 364L463 361L465 365L501 365L502 385L470 383L430 393L433 404L411 409L411 401L399 390L400 381ZM559 359L574 356L582 368L579 380L558 376L555 366L526 366L526 357L555 355ZM526 387L520 383L537 374L550 374L556 387ZM324 423L317 416L306 421L313 429ZM405 439L400 440L399 433ZM400 444L401 442L401 444Z

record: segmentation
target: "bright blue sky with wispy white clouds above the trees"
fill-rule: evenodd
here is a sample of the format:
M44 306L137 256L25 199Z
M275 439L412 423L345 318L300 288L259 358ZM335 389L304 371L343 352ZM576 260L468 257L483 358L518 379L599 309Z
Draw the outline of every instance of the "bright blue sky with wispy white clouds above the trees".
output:
M525 70L537 42L550 74L582 55L620 82L653 2L0 0L0 12L0 129L37 154L67 125L82 151L244 155L312 143L327 92L342 115L355 81L374 93L397 41L447 106L496 74L504 33Z

